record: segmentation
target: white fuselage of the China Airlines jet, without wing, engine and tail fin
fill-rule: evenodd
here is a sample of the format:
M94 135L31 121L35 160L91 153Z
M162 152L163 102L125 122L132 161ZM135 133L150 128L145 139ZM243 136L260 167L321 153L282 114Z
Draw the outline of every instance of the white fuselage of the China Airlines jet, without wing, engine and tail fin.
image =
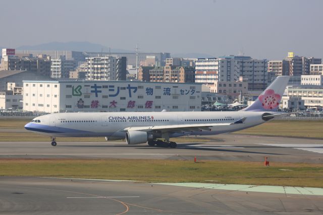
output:
M59 113L36 117L25 128L51 137L125 138L128 127L194 124L230 124L246 118L241 124L217 125L208 130L169 131L170 137L214 135L253 127L264 123L262 114L273 112L122 112Z

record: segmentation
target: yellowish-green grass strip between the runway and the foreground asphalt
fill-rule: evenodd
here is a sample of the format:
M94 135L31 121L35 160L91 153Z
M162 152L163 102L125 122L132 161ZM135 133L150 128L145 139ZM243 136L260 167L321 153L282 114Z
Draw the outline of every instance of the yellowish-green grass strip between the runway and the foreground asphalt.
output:
M289 171L284 171L289 170ZM323 187L323 164L156 159L0 159L1 176Z

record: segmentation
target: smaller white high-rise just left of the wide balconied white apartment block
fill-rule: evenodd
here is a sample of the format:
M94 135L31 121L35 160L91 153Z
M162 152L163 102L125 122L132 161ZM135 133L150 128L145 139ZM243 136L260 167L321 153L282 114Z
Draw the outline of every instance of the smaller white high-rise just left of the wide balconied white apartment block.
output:
M74 60L66 60L65 56L59 59L51 59L50 77L51 78L69 78L70 71L74 71L77 67L77 62Z

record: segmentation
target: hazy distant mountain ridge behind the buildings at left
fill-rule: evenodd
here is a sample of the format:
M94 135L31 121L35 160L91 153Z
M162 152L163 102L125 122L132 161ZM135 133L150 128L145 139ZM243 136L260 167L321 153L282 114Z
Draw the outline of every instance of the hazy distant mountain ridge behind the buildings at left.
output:
M17 50L73 50L88 52L109 52L109 47L91 42L48 42L39 45L22 45ZM111 48L111 52L133 52L126 49Z

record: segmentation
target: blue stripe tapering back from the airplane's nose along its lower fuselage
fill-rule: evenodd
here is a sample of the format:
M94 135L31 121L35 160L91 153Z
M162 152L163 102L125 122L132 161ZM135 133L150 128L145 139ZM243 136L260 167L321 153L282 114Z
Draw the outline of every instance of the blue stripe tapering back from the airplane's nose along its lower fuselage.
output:
M57 126L48 126L48 125L42 125L38 123L28 123L27 125L25 125L25 129L30 131L44 132L44 133L93 133L90 131L82 131L77 129L57 127Z

